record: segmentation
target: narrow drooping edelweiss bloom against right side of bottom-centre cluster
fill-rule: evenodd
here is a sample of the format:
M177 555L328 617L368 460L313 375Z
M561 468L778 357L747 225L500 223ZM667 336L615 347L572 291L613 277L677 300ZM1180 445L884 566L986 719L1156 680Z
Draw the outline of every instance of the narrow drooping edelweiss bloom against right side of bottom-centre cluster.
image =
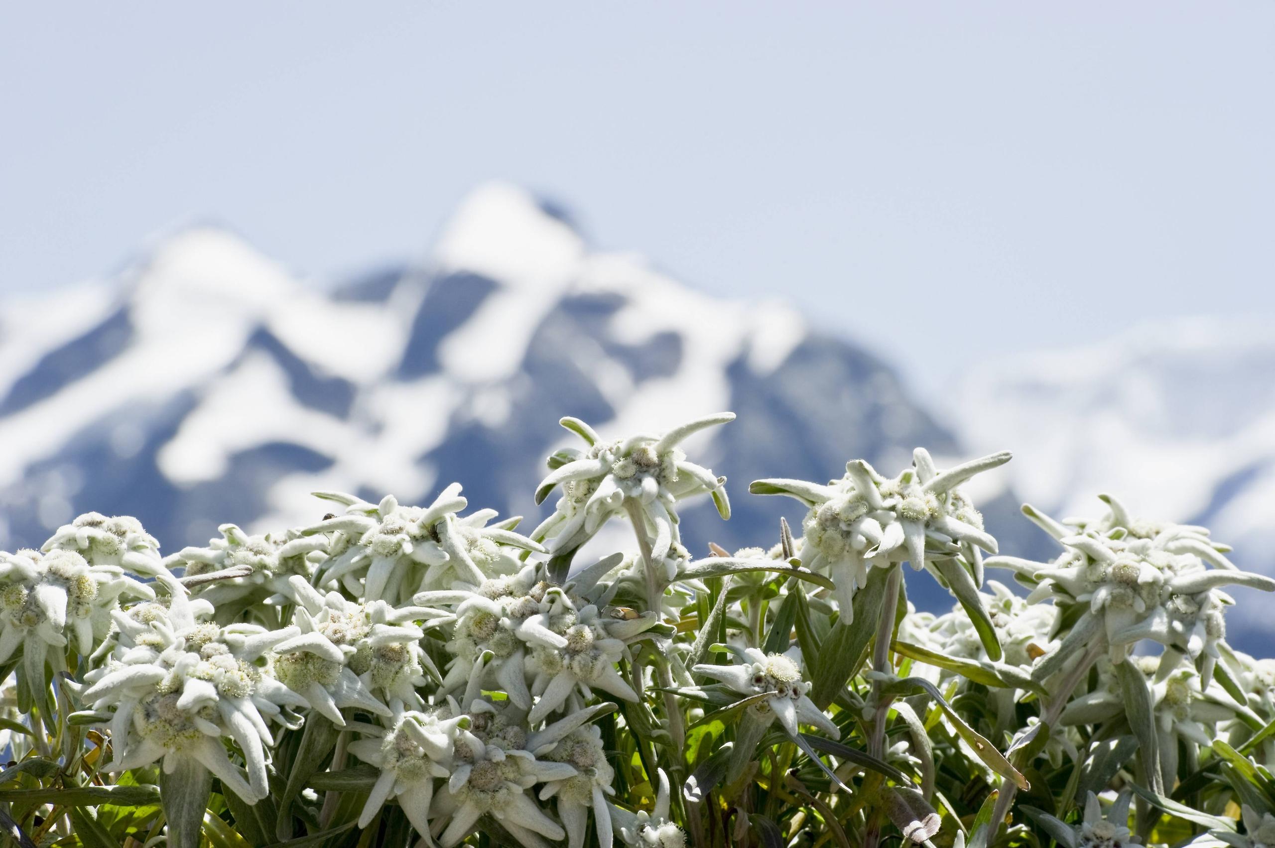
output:
M607 796L616 792L612 787L616 771L607 763L602 731L597 724L578 728L564 737L547 757L566 763L576 770L574 777L548 783L541 791L542 801L557 798L558 817L566 828L569 848L583 848L590 807L598 844L611 848L615 837Z

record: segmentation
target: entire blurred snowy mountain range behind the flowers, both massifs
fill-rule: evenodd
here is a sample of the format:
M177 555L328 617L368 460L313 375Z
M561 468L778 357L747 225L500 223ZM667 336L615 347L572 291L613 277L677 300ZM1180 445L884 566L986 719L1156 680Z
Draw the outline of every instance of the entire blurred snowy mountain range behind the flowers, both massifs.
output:
M685 541L769 546L785 499L760 477L829 479L848 458L894 473L1010 449L974 492L1002 550L1054 551L1020 499L1204 523L1243 567L1272 573L1275 339L1258 325L1144 325L1099 346L1007 358L932 406L895 363L811 328L783 301L711 297L635 254L597 250L561 208L487 184L428 261L328 289L233 232L190 226L113 278L0 307L0 547L38 545L88 510L139 516L173 551L217 524L316 520L315 490L528 516L564 414L621 436L733 409L694 444L728 476ZM546 505L547 508L548 505ZM1006 579L1007 575L1001 575ZM913 581L924 608L950 603ZM1242 606L1241 610L1244 610ZM1247 617L1244 617L1247 616ZM1232 622L1258 639L1253 606Z

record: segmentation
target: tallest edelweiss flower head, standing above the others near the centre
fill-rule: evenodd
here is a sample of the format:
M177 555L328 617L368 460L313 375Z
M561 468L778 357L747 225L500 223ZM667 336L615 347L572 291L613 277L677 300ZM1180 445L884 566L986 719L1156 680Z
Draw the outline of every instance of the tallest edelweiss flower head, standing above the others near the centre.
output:
M550 553L565 555L588 542L608 518L635 504L653 539L652 559L662 561L674 543L677 501L709 492L722 518L731 516L725 477L686 459L678 445L694 434L734 421L733 412L720 412L687 422L662 436L638 435L622 441L602 441L589 425L578 418L561 423L588 444L586 450L565 449L550 457L550 474L536 487L536 502L542 504L555 487L562 486L553 514L532 533L547 539Z

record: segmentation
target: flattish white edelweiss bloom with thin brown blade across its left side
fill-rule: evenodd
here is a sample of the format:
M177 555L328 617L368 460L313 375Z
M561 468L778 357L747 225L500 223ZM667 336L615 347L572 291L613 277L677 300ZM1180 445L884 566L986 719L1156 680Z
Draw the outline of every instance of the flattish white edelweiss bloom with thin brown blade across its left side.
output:
M328 538L289 530L282 537L249 536L235 524L217 528L222 534L208 547L185 547L164 559L170 570L185 569L182 584L193 597L204 598L222 620L233 620L245 606L295 603L289 581L309 581L326 559Z

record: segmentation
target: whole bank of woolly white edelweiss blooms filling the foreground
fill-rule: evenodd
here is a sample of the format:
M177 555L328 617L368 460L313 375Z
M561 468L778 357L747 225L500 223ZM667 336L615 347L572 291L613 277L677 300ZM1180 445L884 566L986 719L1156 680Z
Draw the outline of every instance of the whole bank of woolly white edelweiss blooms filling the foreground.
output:
M1056 522L1024 508L1062 552L1048 564L1000 556L960 486L1007 454L938 471L918 449L896 477L856 460L826 485L759 481L751 491L808 506L802 537L785 539L784 551L692 562L680 541L678 504L709 493L723 518L729 504L725 478L688 462L678 445L732 418L612 442L564 420L585 446L551 457L536 499L556 487L561 497L530 536L515 532L519 519L497 520L492 510L462 515L468 504L459 485L425 508L323 492L340 514L272 536L227 524L208 547L170 556L135 519L82 515L40 551L0 555L6 686L50 733L68 709L76 724L102 728L110 761L101 771L161 764L170 845L198 844L214 777L249 805L270 797L272 752L289 732L320 722L348 738L337 756L354 757L334 769L362 761L377 771L361 828L395 800L431 844L458 844L491 816L525 845L579 848L592 819L602 845L672 848L686 843L685 822L673 821L663 769L648 775L659 784L654 810L630 810L613 797L613 768L594 724L616 709L612 701L666 699L666 729L677 736L700 709L677 692L742 696L736 764L755 755L776 720L794 740L801 724L836 738L848 722L863 720L877 749L870 754L915 765L915 745L886 750L877 729L891 706L887 692L928 681L951 699L973 685L963 669L977 667L1016 681L991 690L993 738L1021 735L1016 705L1039 696L1033 720L1049 732L1039 750L1057 763L1080 755L1077 727L1126 710L1122 669L1133 668L1155 714L1160 788L1173 786L1179 741L1242 741L1255 722L1275 717L1275 662L1228 647L1223 616L1233 602L1221 590L1275 583L1237 570L1204 528L1137 520L1108 496L1098 520ZM617 516L631 522L640 551L571 567L571 556ZM900 684L878 645L866 675L876 700L862 717L811 700L797 640L787 634L787 650L766 653L762 627L751 636L732 627L713 662L704 640L674 627L706 590L704 578L792 570L826 579L782 584L770 618L756 625L773 624L798 592L850 622L876 570L887 575L882 606L892 621L903 562L929 570L959 604L941 616L912 612L899 625L895 650L913 659L909 681ZM1030 594L984 583L988 567L1012 571ZM1148 639L1163 652L1131 657ZM668 662L643 662L643 641ZM717 682L697 685L704 681ZM904 701L894 706L912 712ZM34 737L46 745L43 732ZM6 740L15 751L26 743ZM969 754L987 761L986 751ZM1256 756L1275 763L1275 736ZM1016 775L1012 766L988 766L991 779L997 771ZM923 794L932 792L932 766L929 777ZM1002 783L1002 819L1015 782ZM929 808L927 798L921 803ZM1127 808L1122 796L1104 819L1090 796L1081 825L1046 825L1071 848L1127 843ZM1248 808L1246 820L1247 844L1260 844L1257 830L1266 834L1261 844L1270 842L1272 825ZM280 821L280 837L291 826ZM923 842L933 831L919 821L905 837Z

